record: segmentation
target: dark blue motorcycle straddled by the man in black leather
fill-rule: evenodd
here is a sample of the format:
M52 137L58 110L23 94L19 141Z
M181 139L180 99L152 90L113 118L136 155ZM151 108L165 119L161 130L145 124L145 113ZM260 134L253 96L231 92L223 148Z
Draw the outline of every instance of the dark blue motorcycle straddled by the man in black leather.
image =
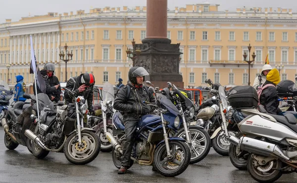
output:
M102 111L113 105L113 94L112 85L106 82L102 90ZM176 130L182 123L180 112L164 95L156 93L156 98L157 103L146 103L156 107L159 115L147 114L141 117L128 168L135 161L140 165L153 165L158 173L165 177L175 177L187 169L191 159L190 149L185 139L169 137L167 133L170 129ZM122 115L120 112L115 112L113 115L113 134L107 132L104 113L102 117L105 136L113 146L112 160L119 169L123 153L122 146L126 139Z

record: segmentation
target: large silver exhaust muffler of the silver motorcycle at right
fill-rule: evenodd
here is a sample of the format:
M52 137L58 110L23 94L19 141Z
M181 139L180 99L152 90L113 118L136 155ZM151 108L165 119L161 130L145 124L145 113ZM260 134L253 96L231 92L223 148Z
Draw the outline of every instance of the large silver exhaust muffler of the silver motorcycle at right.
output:
M290 160L288 156L286 156L282 149L273 143L265 142L262 140L257 140L249 137L241 137L237 138L235 136L231 136L229 138L230 142L239 146L241 150L267 156L273 155L285 160Z

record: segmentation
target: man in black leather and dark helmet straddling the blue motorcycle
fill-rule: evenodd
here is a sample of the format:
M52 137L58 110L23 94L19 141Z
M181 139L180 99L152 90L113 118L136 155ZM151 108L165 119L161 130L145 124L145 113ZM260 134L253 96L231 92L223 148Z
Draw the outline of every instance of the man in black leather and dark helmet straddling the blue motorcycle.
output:
M150 106L145 104L144 101L155 102L153 93L149 93L148 88L143 84L145 76L148 76L145 68L132 67L129 70L129 82L127 84L130 87L127 87L127 85L122 87L114 100L114 109L124 113L127 138L126 144L123 146L122 166L118 174L125 174L128 167L130 167L131 152L140 117L151 112ZM128 92L129 88L130 92Z

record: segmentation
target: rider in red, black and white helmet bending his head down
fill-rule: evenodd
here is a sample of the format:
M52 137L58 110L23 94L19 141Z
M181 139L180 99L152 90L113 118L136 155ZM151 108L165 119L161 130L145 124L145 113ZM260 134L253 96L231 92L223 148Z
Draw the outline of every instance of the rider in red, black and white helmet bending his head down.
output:
M66 88L73 90L75 96L84 96L88 101L88 109L91 115L94 115L93 109L93 92L95 85L95 77L91 73L81 74L79 76L73 77L75 83L72 80L68 80ZM68 92L64 92L66 103L73 103L72 98L69 96Z

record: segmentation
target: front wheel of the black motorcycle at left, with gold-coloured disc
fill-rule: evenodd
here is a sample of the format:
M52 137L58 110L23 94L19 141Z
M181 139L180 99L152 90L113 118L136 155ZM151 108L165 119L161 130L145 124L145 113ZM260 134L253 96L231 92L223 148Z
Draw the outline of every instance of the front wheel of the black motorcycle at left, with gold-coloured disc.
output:
M90 131L82 131L82 144L78 142L76 133L71 134L64 145L64 154L67 160L75 165L85 165L92 162L99 154L99 137Z

